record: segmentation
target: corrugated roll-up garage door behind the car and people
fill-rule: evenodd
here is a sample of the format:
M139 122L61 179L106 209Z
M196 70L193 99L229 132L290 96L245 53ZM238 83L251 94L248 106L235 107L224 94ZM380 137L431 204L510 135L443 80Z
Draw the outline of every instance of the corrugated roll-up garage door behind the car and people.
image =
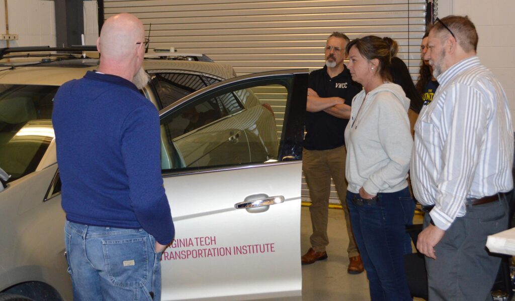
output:
M414 79L420 63L426 0L105 0L105 17L138 16L150 29L150 48L175 47L230 64L238 75L292 68L321 68L323 47L333 31L350 39L390 36ZM284 97L273 87L255 90L272 105L282 125ZM279 133L280 134L280 133ZM343 171L342 171L343 172ZM302 185L308 200L307 185ZM336 191L331 202L339 203Z

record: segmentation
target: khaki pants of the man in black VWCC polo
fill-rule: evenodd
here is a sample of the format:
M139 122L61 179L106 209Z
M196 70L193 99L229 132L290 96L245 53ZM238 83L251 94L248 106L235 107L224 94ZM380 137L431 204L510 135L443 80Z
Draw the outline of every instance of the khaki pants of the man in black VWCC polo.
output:
M345 160L347 150L344 146L327 150L307 150L302 152L302 170L310 189L311 223L313 234L310 237L311 246L317 252L324 252L325 246L329 244L327 236L327 222L329 214L329 196L331 194L331 178L333 178L340 198L341 206L344 208L347 233L349 235L349 257L359 255L354 235L352 233L349 209L346 202L347 181L345 180Z

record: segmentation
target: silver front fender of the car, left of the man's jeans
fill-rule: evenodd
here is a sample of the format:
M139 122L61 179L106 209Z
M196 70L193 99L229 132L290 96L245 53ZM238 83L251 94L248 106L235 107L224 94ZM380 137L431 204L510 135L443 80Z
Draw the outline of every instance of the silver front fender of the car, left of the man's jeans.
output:
M10 182L8 189L0 192L0 291L26 281L40 281L54 287L65 300L72 299L64 257L61 198L43 202L56 171L57 164L50 165ZM20 201L8 201L12 199Z

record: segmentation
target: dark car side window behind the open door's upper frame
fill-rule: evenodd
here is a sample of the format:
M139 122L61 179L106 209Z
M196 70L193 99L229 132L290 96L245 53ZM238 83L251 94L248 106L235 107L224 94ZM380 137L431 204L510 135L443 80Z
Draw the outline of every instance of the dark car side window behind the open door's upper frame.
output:
M165 108L179 99L212 85L220 80L190 73L154 73L152 85L159 96L160 108Z

